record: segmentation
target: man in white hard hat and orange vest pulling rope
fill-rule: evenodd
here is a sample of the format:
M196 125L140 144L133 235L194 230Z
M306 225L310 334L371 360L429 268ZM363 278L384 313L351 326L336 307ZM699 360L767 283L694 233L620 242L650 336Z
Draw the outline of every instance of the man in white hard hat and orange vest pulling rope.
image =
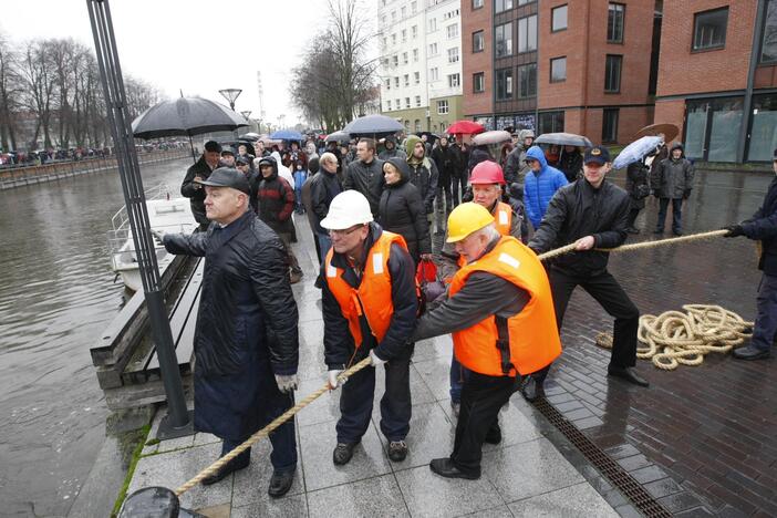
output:
M338 375L348 366L367 355L372 360L372 367L343 384L333 462L348 464L370 426L377 365L385 367L381 432L388 441L388 458L402 462L411 419L408 339L418 307L413 259L402 236L373 222L370 203L356 190L335 196L321 226L332 238L321 266L330 386L338 386Z

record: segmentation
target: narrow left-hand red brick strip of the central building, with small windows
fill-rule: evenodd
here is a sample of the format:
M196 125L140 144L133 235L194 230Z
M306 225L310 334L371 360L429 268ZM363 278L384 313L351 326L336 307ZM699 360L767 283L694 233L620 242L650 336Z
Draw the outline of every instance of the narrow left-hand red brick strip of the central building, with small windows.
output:
M494 112L494 71L491 54L494 52L494 27L491 24L493 0L484 0L480 9L473 10L472 0L462 0L462 87L464 89L464 116L489 114ZM473 53L473 32L484 31L483 52ZM486 89L473 93L473 74L485 72Z

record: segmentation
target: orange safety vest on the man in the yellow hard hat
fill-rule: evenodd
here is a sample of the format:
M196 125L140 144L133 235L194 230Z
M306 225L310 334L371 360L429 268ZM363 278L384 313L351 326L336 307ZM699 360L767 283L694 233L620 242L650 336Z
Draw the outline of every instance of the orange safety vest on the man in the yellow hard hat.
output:
M561 340L548 276L537 256L518 239L503 237L491 251L456 272L449 297L455 297L476 271L495 274L528 291L529 301L509 319L490 315L453 333L456 359L470 371L489 376L525 375L548 366L561 354Z

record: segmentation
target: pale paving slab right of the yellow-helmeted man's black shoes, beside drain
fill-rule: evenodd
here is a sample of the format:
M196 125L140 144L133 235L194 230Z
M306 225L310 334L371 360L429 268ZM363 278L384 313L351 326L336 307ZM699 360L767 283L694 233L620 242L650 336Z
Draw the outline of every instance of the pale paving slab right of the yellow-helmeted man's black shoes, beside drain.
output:
M483 456L481 469L505 501L584 481L546 438L488 452Z

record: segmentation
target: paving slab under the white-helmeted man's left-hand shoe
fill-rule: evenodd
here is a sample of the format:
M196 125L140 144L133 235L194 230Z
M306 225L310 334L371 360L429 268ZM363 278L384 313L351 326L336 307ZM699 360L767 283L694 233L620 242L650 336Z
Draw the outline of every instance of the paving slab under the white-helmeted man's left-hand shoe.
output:
M370 424L362 442L345 466L332 463L336 446L334 422L300 427L304 483L309 491L384 475L391 472L377 429Z

